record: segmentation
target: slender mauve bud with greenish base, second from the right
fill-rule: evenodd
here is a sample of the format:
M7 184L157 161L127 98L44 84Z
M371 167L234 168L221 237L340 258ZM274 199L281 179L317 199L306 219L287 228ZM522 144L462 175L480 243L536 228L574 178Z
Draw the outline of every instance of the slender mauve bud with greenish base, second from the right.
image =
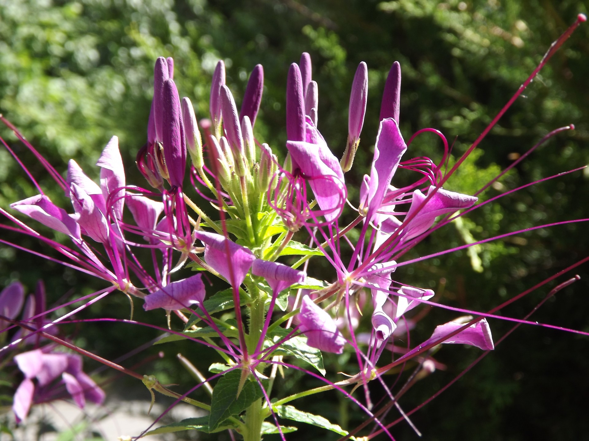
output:
M348 144L341 161L342 170L349 171L354 162L354 156L360 142L360 132L364 125L366 114L366 95L368 93L368 68L365 62L361 62L354 75L352 93L350 95L350 107L348 112Z

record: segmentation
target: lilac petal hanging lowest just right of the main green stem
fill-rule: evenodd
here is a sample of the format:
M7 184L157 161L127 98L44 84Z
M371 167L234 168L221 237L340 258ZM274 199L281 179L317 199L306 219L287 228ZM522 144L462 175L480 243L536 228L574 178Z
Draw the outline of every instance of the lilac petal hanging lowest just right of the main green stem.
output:
M346 339L331 316L315 305L309 296L303 297L298 318L299 330L307 336L307 345L336 354L343 352Z

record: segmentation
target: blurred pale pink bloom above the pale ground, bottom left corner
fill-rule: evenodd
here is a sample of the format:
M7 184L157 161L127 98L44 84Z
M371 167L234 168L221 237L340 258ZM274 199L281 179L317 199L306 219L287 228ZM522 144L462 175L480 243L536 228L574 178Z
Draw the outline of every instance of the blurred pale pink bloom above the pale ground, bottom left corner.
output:
M41 349L35 349L19 354L14 359L25 375L25 379L16 389L12 404L16 422L21 422L28 415L34 401L35 385L32 380L35 378L39 386L45 387L61 375L66 389L82 409L86 400L99 405L104 402L104 391L82 372L82 358L79 355L45 353Z

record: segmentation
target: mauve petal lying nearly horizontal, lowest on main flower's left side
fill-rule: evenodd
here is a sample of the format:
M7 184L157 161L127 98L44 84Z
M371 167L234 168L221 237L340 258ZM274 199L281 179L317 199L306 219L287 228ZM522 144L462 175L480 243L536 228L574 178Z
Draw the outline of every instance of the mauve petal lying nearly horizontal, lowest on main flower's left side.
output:
M145 296L143 309L148 311L157 308L167 310L188 308L191 305L203 302L204 294L203 280L201 280L201 275L197 274L187 279L169 283L153 294L148 294Z

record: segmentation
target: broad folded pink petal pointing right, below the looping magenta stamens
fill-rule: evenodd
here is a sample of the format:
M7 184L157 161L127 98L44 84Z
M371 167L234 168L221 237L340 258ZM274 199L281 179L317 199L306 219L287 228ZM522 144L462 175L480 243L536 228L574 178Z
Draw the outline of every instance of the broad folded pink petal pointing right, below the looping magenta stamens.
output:
M430 192L435 191L435 189L435 186L430 186L428 195ZM419 212L417 212L415 217L409 221L408 225L406 225L403 240L413 239L421 233L426 232L432 225L434 225L437 216L454 213L456 210L462 208L469 208L478 200L475 196L462 195L461 193L450 192L438 188L434 196L432 196L424 206L419 208L425 198L426 195L421 191L415 190L413 192L413 201L411 202L411 207L409 208L407 216L413 215L418 209Z

